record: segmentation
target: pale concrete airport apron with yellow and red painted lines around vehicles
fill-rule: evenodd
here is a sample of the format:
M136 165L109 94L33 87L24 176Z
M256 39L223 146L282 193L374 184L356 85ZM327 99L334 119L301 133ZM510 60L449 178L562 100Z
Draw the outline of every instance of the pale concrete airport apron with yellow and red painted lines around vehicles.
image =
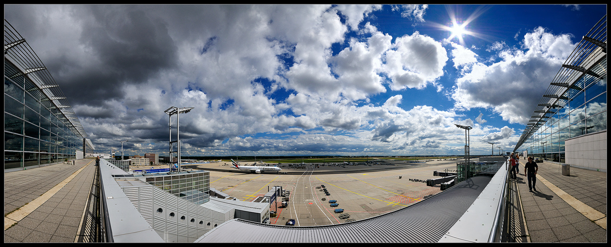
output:
M284 225L288 219L295 219L295 226L324 226L393 212L422 201L425 196L437 194L441 191L439 185L426 186L425 181L438 178L433 176L433 171L455 170L456 161L417 164L397 161L396 166L319 167L283 168L282 171L289 174L251 174L230 172L235 169L223 163L197 164L197 169L210 171L211 188L241 201L263 196L272 186L282 186L290 191L288 207L281 207L280 198L276 205L272 204L270 210L276 211L277 216L271 218L271 224ZM329 196L319 187L321 185L325 186ZM338 207L331 207L329 200L336 200ZM344 212L334 213L335 208L343 208Z

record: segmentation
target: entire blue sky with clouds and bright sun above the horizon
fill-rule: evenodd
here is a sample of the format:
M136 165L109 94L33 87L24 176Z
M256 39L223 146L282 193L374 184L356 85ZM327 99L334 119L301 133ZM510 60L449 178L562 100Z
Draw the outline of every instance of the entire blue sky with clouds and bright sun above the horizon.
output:
M95 152L511 152L606 5L4 5ZM494 146L488 142L494 143ZM500 147L500 149L499 149Z

